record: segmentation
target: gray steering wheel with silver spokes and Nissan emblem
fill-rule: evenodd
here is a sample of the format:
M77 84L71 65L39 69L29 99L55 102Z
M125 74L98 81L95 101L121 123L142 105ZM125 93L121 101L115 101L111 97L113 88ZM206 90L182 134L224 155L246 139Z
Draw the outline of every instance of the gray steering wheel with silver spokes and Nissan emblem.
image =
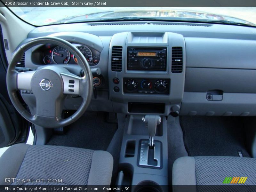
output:
M79 77L70 73L66 68L46 66L36 71L17 72L17 62L24 52L40 44L56 44L65 47L74 53L78 65L83 69L84 76ZM19 47L14 52L7 69L7 90L12 104L29 122L46 127L57 128L67 126L82 116L90 104L93 92L91 68L84 55L71 43L57 37L39 37ZM30 114L18 98L18 90L32 91L36 97L36 114ZM68 118L61 117L63 101L67 95L76 95L83 98L81 106Z

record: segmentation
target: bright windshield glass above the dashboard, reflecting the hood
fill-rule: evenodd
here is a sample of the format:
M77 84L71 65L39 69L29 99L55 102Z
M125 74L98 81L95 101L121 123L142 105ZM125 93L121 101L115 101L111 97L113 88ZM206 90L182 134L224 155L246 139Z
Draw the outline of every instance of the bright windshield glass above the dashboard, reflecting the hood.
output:
M9 7L35 26L104 20L179 20L256 26L256 7Z

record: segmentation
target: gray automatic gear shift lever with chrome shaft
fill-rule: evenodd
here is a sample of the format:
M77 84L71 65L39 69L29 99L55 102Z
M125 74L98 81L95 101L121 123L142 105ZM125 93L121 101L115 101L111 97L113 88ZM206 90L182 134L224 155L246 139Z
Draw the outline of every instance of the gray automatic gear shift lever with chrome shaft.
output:
M142 117L142 121L145 122L146 128L148 128L149 147L152 148L154 147L156 127L161 123L161 117L159 115L145 115L145 117Z

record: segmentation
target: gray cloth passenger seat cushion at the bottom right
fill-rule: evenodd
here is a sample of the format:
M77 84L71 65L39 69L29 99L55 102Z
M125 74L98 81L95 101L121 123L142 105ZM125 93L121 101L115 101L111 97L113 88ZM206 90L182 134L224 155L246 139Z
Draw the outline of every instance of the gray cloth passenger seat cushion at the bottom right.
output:
M245 185L254 186L256 191L256 158L231 156L180 157L172 168L172 184L222 186L226 177L247 177ZM229 183L228 185L232 185Z

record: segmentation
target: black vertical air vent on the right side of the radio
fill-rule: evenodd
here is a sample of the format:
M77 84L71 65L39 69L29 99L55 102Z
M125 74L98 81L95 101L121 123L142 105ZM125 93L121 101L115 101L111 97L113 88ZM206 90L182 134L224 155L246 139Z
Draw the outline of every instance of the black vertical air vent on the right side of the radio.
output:
M172 47L172 73L181 73L183 67L182 47Z

